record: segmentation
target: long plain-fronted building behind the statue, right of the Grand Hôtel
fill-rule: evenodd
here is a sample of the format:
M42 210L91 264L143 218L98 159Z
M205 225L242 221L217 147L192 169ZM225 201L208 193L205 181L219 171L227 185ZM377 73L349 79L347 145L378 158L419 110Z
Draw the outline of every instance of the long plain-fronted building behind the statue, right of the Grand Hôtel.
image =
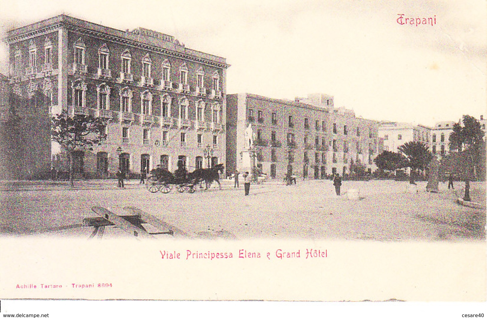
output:
M242 169L244 130L255 133L256 166L269 176L286 172L303 178L349 173L352 162L375 170L382 149L378 122L335 108L333 96L311 94L306 99L278 100L253 94L227 95L226 167Z

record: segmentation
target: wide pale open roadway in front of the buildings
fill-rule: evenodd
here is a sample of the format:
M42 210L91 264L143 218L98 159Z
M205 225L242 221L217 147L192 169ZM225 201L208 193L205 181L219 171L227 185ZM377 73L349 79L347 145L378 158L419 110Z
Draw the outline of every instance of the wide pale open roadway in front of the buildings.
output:
M0 192L0 235L88 237L92 229L77 225L97 216L92 206L117 214L134 206L201 238L485 239L485 210L454 203L446 184L440 184L439 194L425 192L424 183L418 184L418 193L407 193L408 186L394 181L344 182L345 195L340 197L328 180L253 185L248 197L230 180L223 182L222 190L198 189L194 194L152 194L136 183L126 189L112 184L74 190L27 187ZM362 199L347 200L349 188L357 188ZM473 183L472 197L485 202L485 188L485 183ZM120 229L107 229L104 237L122 236Z

